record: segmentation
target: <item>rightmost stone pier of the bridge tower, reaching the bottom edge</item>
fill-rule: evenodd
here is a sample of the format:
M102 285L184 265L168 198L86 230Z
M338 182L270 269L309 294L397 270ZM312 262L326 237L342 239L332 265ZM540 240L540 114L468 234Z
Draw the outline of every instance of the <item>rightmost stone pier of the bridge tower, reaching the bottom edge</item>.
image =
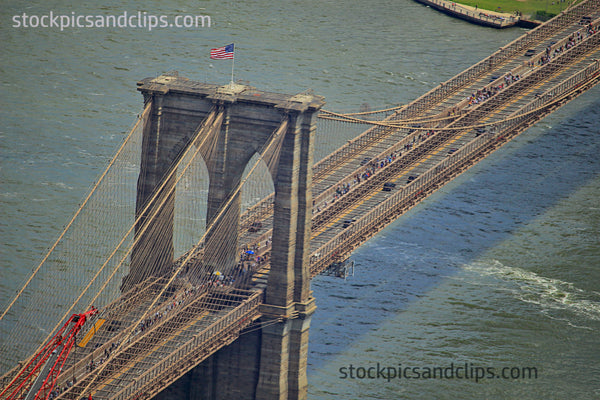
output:
M271 271L262 305L263 340L257 400L307 396L314 114L290 113L277 171ZM283 164L283 165L282 165ZM273 325L273 320L279 320Z

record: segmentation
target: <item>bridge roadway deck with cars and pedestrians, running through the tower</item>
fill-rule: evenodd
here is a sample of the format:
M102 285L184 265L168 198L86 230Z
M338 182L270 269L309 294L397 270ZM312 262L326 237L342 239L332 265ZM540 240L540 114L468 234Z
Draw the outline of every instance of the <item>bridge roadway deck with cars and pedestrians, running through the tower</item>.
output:
M598 83L600 66L594 60L600 59L600 34L590 35L579 24L584 16L597 29L600 0L582 3L528 32L385 120L405 121L402 128L374 126L316 164L312 274L347 258L436 188ZM570 37L576 43L567 50ZM553 55L561 46L563 51L539 65L548 46ZM477 105L468 104L472 93L506 83L509 73L519 80ZM393 159L381 166L390 154ZM359 183L356 176L367 170L372 175ZM384 191L384 183L395 187ZM342 184L350 189L333 202ZM57 398L87 398L89 393L94 399L151 398L256 327L269 268L265 241L272 227L271 204L267 198L242 216L241 243L260 243L259 252L267 258L251 282L197 291L181 279L156 301L166 279L155 278L123 294L92 321L95 334L65 365L59 382L64 391ZM262 228L250 232L256 221ZM143 327L132 326L144 315L149 317Z

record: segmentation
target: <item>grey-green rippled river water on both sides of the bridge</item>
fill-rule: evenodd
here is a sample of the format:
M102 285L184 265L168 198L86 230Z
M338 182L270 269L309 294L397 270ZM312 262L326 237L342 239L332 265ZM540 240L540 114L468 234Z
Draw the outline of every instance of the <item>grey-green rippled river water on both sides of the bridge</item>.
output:
M69 3L0 10L1 308L140 112L137 80L178 70L226 84L231 62L210 60L209 49L235 42L235 79L312 88L330 110L376 109L418 97L524 32L410 0ZM13 27L13 16L50 11L212 23ZM595 88L358 249L353 277L315 278L309 398L600 398L599 133ZM18 358L2 354L2 372Z

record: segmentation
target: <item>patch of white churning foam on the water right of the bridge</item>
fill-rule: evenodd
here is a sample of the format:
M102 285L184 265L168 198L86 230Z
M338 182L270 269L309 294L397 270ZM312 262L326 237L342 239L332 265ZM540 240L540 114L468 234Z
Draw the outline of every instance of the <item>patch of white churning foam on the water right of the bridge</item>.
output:
M480 276L504 281L506 285L497 287L498 289L511 292L515 298L523 302L539 305L550 318L555 316L548 314L549 311L560 310L600 321L600 298L597 292L586 292L575 287L573 283L504 265L494 259L475 261L463 268Z

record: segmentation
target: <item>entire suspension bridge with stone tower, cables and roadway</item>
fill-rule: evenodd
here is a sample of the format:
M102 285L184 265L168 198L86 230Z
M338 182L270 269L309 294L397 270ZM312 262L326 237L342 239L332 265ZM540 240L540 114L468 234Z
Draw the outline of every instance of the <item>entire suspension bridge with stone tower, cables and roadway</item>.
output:
M141 80L134 127L1 311L21 361L0 398L306 398L311 278L345 276L361 244L595 86L599 28L600 0L581 2L409 104L353 114L312 91ZM340 132L314 163L315 135Z

